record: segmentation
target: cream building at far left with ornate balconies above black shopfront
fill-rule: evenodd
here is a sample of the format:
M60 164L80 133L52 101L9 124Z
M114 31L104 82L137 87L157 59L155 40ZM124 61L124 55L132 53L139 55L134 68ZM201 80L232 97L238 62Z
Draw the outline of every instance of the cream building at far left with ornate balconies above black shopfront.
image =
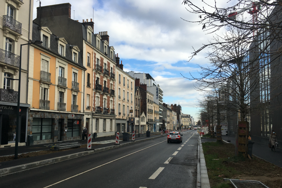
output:
M27 139L29 43L32 39L33 1L0 0L0 147L25 145ZM21 58L20 126L16 135L19 62Z

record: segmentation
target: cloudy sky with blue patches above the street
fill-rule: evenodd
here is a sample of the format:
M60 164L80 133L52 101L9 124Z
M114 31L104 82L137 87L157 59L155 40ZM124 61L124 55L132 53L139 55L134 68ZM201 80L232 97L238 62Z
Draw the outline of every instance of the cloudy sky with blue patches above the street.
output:
M191 77L190 73L197 75L198 65L208 64L204 52L188 60L192 46L197 49L212 36L202 25L181 19L197 19L182 0L41 0L41 6L60 3L71 4L72 19L94 18L94 33L108 31L110 46L123 61L124 70L149 73L163 89L165 103L179 102L183 113L198 120L200 95L194 81L180 73ZM39 1L34 1L34 19L38 6Z

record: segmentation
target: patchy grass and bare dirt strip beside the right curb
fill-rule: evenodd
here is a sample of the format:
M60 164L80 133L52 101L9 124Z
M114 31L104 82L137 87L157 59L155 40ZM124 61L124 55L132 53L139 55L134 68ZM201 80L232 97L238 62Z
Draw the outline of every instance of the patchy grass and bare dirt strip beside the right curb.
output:
M282 168L253 156L235 157L233 144L202 143L212 188L232 187L227 179L257 180L269 188L282 188ZM218 159L218 160L212 160Z

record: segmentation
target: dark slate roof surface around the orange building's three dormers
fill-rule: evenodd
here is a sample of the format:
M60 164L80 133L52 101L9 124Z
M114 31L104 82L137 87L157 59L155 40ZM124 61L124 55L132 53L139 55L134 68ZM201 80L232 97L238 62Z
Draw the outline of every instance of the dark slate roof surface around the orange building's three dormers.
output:
M32 25L32 39L33 41L35 40L41 40L40 39L40 31L39 31L39 25L34 23L33 22L33 25ZM40 46L41 48L44 48L45 50L47 51L50 51L51 53L54 53L62 58L64 58L65 60L68 60L68 61L71 61L73 63L76 63L72 60L72 55L71 55L71 48L70 48L70 44L66 44L65 45L65 57L60 55L59 54L59 48L58 48L58 41L57 41L57 36L54 35L54 34L51 34L50 35L50 49L44 47L42 44L35 44L35 45L38 45ZM83 61L82 61L82 55L81 55L81 51L78 53L78 65L82 68L82 69L86 69L84 66L83 66Z

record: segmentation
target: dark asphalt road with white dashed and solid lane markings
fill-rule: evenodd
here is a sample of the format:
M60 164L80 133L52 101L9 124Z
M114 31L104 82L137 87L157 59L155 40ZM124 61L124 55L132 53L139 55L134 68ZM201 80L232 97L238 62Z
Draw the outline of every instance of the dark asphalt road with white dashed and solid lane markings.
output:
M182 134L180 144L156 138L3 176L0 187L194 188L198 137Z

